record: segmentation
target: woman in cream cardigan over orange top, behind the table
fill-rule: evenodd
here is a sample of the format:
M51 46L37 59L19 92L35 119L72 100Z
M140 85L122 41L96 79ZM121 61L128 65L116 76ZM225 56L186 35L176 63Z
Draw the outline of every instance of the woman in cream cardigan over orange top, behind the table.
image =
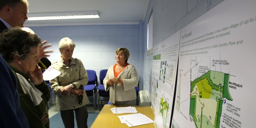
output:
M109 90L109 102L115 105L136 105L138 75L134 65L127 63L129 56L126 48L118 48L117 63L109 67L103 80L105 91Z

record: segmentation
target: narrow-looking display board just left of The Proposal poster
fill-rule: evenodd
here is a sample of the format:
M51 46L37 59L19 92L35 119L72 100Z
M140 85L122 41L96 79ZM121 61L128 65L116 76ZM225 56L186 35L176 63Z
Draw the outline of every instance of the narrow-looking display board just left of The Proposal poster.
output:
M179 45L180 31L154 46L151 103L156 128L171 124Z

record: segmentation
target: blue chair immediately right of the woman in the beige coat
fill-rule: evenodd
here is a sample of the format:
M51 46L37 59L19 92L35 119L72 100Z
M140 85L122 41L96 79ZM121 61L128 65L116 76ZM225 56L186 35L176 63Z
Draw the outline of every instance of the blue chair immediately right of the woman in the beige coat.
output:
M83 88L86 92L89 102L92 103L93 108L96 109L97 106L95 104L95 93L97 91L98 78L97 78L95 70L86 70L86 71L88 74L89 81L88 81L87 85L85 85Z

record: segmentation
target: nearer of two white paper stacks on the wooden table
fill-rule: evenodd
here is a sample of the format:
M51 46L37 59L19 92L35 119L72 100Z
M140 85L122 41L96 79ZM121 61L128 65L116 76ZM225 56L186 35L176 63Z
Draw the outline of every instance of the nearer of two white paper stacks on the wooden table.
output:
M119 117L122 124L125 123L129 127L134 127L134 126L139 126L139 125L149 124L154 122L150 118L148 118L147 116L141 113L130 114L130 115L120 115L117 117Z

